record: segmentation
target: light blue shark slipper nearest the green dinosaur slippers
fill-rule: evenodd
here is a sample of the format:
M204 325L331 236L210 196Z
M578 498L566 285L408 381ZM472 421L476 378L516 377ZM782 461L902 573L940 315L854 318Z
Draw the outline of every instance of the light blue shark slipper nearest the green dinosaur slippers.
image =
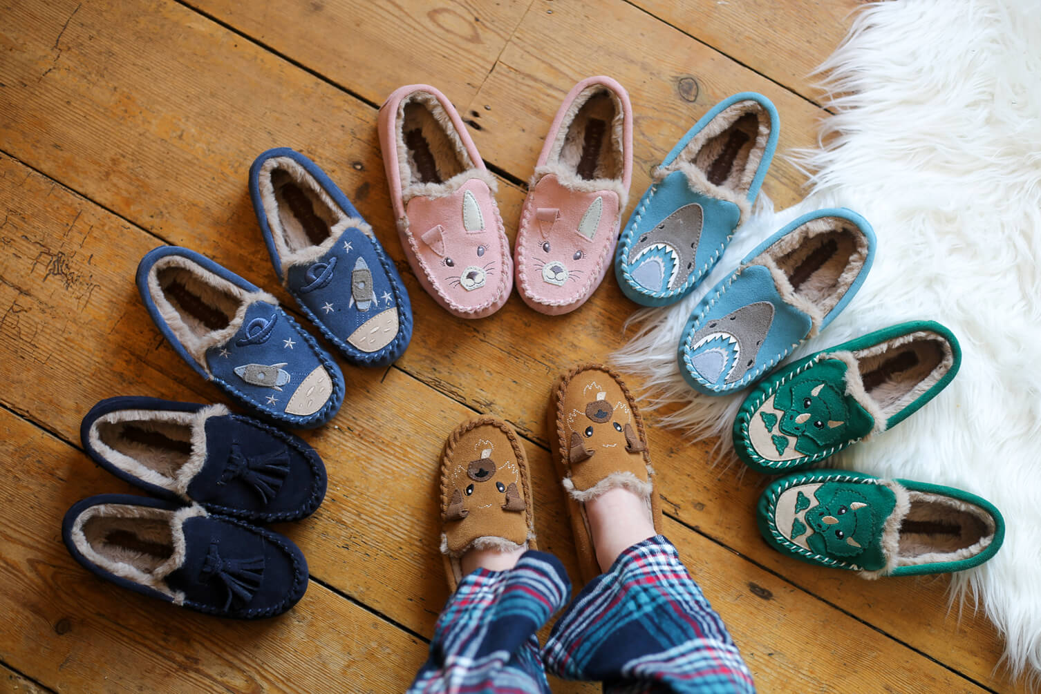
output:
M680 372L699 392L748 386L823 330L860 289L874 232L847 209L798 217L709 290L680 337Z

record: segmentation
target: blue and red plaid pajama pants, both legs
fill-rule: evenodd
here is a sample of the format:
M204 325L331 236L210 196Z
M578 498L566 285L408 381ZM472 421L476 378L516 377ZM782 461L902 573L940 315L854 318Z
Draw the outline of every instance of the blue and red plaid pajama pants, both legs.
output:
M437 620L411 692L549 692L545 672L607 692L754 692L727 627L661 535L634 544L563 607L563 566L528 551L509 571L465 576Z

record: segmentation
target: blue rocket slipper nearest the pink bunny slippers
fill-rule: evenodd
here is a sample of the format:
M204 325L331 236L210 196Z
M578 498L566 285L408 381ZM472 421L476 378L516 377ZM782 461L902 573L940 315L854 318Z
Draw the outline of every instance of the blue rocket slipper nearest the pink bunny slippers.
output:
M268 150L250 197L278 278L352 364L380 366L412 337L405 285L361 214L313 161Z

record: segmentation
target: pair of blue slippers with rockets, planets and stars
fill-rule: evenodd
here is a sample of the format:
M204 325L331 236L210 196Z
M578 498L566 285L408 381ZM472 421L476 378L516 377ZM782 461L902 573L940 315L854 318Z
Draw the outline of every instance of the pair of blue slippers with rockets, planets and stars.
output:
M249 187L272 264L303 314L352 364L400 357L412 335L408 293L347 196L285 148L253 162ZM157 248L137 266L137 288L174 350L254 413L309 429L342 404L332 357L274 297L212 260Z

